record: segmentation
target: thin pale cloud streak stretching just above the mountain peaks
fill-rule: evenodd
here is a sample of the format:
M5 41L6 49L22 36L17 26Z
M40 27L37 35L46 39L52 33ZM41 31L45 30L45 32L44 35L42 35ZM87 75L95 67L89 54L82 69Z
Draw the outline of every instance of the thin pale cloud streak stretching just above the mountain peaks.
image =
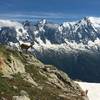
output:
M46 18L50 21L70 21L70 20L77 20L82 17L85 17L86 15L81 14L66 14L66 13L52 13L52 12L31 12L31 13L18 13L18 12L12 12L12 13L6 13L6 14L0 14L0 19L11 19L11 20L38 20L42 18Z

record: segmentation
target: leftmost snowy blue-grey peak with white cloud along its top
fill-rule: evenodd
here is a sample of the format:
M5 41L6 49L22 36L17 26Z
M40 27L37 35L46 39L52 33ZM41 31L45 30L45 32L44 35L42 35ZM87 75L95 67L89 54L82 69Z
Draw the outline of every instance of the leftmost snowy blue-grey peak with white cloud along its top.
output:
M11 20L0 20L0 43L19 42L27 37L22 23Z

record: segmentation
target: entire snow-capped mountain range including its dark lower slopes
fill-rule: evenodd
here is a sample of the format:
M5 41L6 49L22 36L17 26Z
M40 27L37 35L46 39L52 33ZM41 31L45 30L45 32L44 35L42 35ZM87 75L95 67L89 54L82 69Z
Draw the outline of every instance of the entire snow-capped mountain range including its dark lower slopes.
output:
M22 43L34 44L30 50L44 63L59 66L72 78L100 81L100 18L62 24L0 20L0 43L19 49Z

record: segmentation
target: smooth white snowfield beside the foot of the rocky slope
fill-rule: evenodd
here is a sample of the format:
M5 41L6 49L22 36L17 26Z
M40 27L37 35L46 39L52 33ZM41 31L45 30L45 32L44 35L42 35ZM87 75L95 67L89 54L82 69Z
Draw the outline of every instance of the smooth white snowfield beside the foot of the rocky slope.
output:
M100 100L100 83L76 82L85 91L88 90L89 100Z

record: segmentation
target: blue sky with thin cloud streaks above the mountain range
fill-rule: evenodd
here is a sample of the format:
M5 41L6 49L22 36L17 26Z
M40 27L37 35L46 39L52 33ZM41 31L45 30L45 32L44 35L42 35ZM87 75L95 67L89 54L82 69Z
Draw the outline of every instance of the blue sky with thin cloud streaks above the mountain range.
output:
M62 22L100 16L100 0L0 0L1 19Z

